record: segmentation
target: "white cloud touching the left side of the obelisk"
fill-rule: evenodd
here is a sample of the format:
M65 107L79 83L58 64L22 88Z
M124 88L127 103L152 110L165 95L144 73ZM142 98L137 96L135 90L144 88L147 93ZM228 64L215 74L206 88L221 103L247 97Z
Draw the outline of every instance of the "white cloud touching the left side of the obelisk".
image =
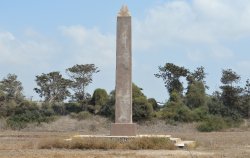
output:
M72 60L107 66L115 63L115 36L103 34L97 28L62 26L62 34L70 39Z

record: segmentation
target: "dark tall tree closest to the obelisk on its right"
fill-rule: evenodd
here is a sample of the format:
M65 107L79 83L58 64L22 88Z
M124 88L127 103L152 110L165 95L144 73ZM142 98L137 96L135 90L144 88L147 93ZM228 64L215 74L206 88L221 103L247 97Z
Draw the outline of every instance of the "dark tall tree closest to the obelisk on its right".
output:
M183 85L180 81L180 77L186 77L188 72L189 71L184 67L179 67L173 63L166 63L163 67L159 66L159 72L155 74L155 76L163 79L169 94L173 91L182 94Z

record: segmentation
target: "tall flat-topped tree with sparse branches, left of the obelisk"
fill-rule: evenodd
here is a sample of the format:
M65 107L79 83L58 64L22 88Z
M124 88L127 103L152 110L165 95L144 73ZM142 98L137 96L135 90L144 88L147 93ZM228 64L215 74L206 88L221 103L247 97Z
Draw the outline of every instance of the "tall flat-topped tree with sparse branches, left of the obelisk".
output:
M88 96L85 89L92 83L93 74L99 72L98 67L94 64L77 64L66 69L66 72L71 78L71 88L75 92L72 98L77 101L85 101Z

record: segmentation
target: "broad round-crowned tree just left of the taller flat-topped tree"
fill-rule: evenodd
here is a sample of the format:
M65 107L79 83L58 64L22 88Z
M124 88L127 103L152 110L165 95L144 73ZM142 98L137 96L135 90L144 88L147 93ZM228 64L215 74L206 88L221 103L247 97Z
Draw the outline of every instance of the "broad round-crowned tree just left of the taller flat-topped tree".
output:
M34 90L41 98L44 97L45 102L62 102L70 96L68 88L71 81L63 78L60 72L43 73L36 76L35 81L38 88L34 88Z

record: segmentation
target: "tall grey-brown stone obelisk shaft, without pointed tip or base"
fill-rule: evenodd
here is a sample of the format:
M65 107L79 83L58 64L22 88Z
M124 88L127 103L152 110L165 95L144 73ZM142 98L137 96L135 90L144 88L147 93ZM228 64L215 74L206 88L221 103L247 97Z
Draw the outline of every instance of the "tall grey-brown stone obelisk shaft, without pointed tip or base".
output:
M117 17L115 122L132 123L131 16Z

